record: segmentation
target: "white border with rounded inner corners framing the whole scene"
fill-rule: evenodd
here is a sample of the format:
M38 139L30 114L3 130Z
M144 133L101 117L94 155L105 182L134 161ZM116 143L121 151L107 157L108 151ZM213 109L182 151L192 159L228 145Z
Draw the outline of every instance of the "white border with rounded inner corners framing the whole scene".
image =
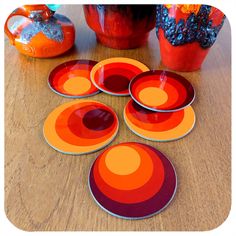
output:
M78 234L78 232L25 232L18 228L16 228L6 217L5 211L4 211L4 23L7 18L7 16L17 7L24 5L24 4L39 4L39 3L60 3L60 4L84 4L84 3L111 3L111 4L128 4L128 3L138 3L138 4L157 4L157 3L194 3L194 4L208 4L215 6L219 8L221 11L225 13L227 16L230 24L231 24L231 33L232 33L232 91L236 91L235 88L235 79L236 79L236 51L235 51L235 38L236 38L236 1L235 0L205 0L205 1L191 1L191 0L143 0L143 1L127 1L127 0L103 0L103 1L96 1L96 0L90 0L90 1L79 1L79 0L17 0L17 1L11 1L11 0L3 0L1 1L1 14L0 14L0 150L1 150L1 156L0 156L0 235L1 236L7 236L7 235L56 235L56 234L62 234L62 235L71 235L71 234ZM12 65L14 67L14 65ZM235 92L236 94L236 92ZM226 219L226 221L220 225L218 228L211 230L211 231L205 231L205 232L113 232L113 234L121 234L122 235L128 235L128 234L158 234L160 236L162 235L236 235L236 161L235 161L235 153L236 153L236 142L235 142L235 132L236 132L236 125L235 122L233 122L236 118L235 113L235 95L232 92L232 206L231 206L231 212ZM92 234L91 232L79 232L79 234ZM93 232L95 233L95 232ZM111 234L111 232L107 232ZM104 232L96 232L95 234L103 235Z

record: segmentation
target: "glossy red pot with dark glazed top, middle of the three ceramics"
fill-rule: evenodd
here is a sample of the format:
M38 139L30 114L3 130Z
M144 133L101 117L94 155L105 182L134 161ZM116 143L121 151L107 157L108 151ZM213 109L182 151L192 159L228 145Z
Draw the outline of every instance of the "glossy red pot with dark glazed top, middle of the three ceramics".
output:
M83 9L97 40L107 47L141 47L155 27L154 5L84 5Z

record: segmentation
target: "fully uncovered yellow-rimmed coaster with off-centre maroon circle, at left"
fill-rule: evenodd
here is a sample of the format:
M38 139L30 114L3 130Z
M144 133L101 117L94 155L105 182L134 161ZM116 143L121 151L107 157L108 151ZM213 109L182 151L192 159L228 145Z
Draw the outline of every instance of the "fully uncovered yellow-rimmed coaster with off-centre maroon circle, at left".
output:
M116 113L93 100L75 100L57 107L47 117L43 132L47 143L65 154L97 151L115 138Z

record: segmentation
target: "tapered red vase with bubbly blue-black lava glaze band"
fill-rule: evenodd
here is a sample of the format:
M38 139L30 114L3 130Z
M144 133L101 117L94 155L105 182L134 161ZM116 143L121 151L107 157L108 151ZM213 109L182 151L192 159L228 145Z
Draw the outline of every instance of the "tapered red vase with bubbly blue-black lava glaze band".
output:
M176 71L200 69L224 18L220 10L207 5L159 5L157 37L162 63Z

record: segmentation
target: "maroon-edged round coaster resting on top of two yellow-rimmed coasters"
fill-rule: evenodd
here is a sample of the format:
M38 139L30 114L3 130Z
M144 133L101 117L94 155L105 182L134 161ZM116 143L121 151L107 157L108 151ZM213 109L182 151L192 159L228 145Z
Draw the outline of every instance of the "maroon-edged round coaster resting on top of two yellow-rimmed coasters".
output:
M131 97L141 106L173 112L189 106L195 91L184 77L169 71L152 70L137 75L129 85Z

